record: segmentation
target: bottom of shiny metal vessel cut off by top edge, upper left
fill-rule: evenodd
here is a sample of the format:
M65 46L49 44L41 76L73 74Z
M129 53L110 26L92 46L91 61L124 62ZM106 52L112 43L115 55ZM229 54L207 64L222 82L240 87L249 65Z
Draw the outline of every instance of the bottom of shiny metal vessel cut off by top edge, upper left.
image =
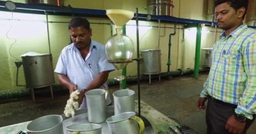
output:
M26 0L26 3L64 6L64 0Z

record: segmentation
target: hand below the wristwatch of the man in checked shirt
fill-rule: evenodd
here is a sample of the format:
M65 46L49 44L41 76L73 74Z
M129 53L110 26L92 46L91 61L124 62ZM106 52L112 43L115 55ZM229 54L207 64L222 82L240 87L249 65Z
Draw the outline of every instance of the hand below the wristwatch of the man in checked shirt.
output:
M234 115L231 115L228 118L228 121L226 121L225 128L230 132L234 134L242 134L243 130L245 129L245 123L241 123L240 121L236 120L236 117Z

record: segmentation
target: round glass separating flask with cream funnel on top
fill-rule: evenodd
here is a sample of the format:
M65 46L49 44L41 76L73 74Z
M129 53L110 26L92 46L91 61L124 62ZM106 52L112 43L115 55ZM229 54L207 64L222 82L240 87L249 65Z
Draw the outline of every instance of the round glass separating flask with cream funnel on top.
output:
M134 49L132 40L122 34L122 26L133 18L134 13L122 9L107 9L106 15L117 27L117 34L111 36L106 42L106 55L108 56L108 62L119 70L119 76L115 77L115 79L121 81L125 79L125 76L122 75L122 70L129 62L132 62L131 58Z

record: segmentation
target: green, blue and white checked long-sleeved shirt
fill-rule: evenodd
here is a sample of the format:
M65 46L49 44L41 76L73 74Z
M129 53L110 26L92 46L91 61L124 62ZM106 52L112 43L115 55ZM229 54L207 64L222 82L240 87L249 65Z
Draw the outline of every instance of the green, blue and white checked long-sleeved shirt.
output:
M256 114L256 30L240 25L223 33L212 50L212 67L201 97L213 96L237 105L235 112L253 119Z

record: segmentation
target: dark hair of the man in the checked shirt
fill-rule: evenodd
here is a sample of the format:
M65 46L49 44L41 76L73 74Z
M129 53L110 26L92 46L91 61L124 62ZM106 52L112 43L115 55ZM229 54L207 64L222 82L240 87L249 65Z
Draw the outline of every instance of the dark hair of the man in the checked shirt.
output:
M215 7L222 3L228 3L228 5L230 5L230 7L233 7L236 11L241 7L245 7L245 14L246 14L248 1L249 0L216 0ZM243 18L245 17L245 14L243 15Z

